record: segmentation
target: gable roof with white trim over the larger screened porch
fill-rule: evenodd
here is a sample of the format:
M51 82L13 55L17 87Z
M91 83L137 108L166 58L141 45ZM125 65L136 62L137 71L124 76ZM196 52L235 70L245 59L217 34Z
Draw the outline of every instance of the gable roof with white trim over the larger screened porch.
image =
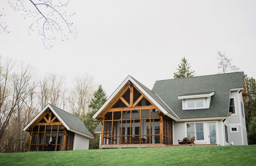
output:
M108 98L108 100L100 107L100 109L92 116L96 118L100 112L108 105L108 103L116 96L116 94L124 87L127 81L131 81L133 85L135 85L144 95L148 97L148 99L156 105L165 115L172 117L174 120L178 120L179 117L175 115L175 113L170 109L154 92L149 90L143 84L141 84L136 79L132 78L130 75L121 83L121 85L116 89L116 91Z

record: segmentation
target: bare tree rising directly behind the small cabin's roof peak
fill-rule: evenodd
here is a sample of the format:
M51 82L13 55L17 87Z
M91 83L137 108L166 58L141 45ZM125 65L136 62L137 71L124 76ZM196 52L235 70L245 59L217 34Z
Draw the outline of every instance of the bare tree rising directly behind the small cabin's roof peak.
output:
M39 102L41 109L50 104L65 108L66 79L56 73L46 74L40 81Z

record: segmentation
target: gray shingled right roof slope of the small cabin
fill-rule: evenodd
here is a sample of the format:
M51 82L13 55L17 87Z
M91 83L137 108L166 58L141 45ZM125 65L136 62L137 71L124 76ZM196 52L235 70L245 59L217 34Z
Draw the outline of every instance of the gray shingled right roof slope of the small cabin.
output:
M60 116L60 118L68 125L70 129L76 130L77 132L81 132L88 136L93 137L91 132L84 126L84 123L81 121L79 117L72 115L54 105L50 104L52 108L56 111L56 113Z

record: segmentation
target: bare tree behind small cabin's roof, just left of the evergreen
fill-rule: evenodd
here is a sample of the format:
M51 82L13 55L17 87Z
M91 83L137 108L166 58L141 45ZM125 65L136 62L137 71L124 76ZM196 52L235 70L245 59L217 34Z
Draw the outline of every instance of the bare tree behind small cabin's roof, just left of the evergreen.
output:
M94 91L93 77L88 74L74 78L74 87L69 92L68 106L72 114L82 118L89 110L89 104Z

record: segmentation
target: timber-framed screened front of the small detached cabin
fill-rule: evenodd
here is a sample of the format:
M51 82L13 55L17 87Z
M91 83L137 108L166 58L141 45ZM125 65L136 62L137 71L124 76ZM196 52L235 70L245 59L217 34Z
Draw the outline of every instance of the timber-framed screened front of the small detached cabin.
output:
M30 133L29 151L47 151L50 138L54 151L73 150L74 132L68 131L49 108L26 131Z

